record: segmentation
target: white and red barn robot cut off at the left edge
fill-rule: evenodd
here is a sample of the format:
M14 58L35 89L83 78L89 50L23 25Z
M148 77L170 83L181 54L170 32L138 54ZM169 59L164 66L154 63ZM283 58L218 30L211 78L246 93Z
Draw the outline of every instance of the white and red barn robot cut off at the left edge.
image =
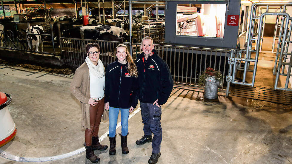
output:
M0 92L0 147L15 137L16 126L12 120L7 105L11 102L11 96Z

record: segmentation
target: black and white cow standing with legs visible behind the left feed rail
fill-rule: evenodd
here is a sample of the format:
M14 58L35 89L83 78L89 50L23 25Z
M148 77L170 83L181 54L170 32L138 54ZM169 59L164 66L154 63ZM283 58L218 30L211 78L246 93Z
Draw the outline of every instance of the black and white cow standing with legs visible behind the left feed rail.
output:
M28 34L28 29L25 30ZM30 26L30 33L32 34L44 34L44 30L42 26ZM32 46L30 45L30 39L32 41ZM42 35L27 35L27 44L30 49L34 49L35 51L39 51L39 46L41 46L41 51L44 52L43 44L44 44L44 36Z

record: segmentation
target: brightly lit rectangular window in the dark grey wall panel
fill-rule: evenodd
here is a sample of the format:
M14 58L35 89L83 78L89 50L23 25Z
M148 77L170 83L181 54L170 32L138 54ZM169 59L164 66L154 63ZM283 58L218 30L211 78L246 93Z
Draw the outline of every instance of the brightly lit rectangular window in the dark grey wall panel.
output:
M177 4L176 35L221 37L226 4Z

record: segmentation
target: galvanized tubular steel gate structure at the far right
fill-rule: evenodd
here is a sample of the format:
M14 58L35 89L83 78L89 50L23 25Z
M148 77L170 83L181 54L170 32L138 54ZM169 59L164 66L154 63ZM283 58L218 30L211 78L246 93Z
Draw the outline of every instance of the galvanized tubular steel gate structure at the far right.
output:
M278 16L278 17L282 16L282 23L281 23L280 33L279 33L278 47L280 47L279 45L281 42L281 38L283 38L281 51L279 52L280 48L278 48L277 53L276 53L275 65L277 65L276 62L278 61L277 60L278 55L279 55L279 61L278 61L279 64L277 65L277 69L274 69L277 71L274 89L291 91L291 89L288 88L288 83L289 83L289 78L291 76L290 74L291 74L292 64L291 64L291 61L289 63L285 62L287 55L291 54L291 53L287 53L288 52L288 44L291 43L291 41L289 41L290 35L291 35L291 28L290 28L289 33L287 35L288 25L289 25L289 21L291 20L291 18L289 16L289 14L287 14L287 13L268 13L268 12L265 12L265 13L261 14L261 16L256 16L256 9L259 6L267 6L267 10L268 10L269 6L283 6L285 9L286 6L292 6L292 3L291 2L289 2L289 3L273 3L273 4L254 3L252 5L251 16L250 16L251 23L250 23L249 32L248 32L248 42L247 42L246 54L245 54L245 57L242 57L241 55L242 55L243 50L241 50L239 58L234 57L233 53L232 53L232 56L230 56L230 58L228 58L228 64L230 64L230 66L229 66L228 76L226 77L226 81L228 81L227 90L229 90L230 82L234 83L234 84L254 86L256 69L257 69L257 61L258 61L258 57L259 57L259 49L260 49L260 43L261 43L261 38L262 38L261 35L262 35L262 29L263 29L263 27L262 27L263 20L264 20L265 16L267 16L267 15L274 15L274 16ZM285 19L286 19L286 22L285 22ZM256 26L256 20L259 20L259 24L258 24L259 28L258 28L257 33L254 33L254 28ZM285 22L285 28L284 28L284 22ZM283 28L285 30L283 30ZM283 37L281 36L282 33L283 33ZM253 41L256 41L255 49L253 49L253 47L252 47ZM287 44L286 52L284 53L284 49L285 49L286 44ZM251 52L256 52L255 58L251 58ZM283 58L285 58L284 62L282 62ZM243 69L243 71L244 71L243 72L243 79L242 79L242 82L237 82L237 81L235 81L235 72L236 72L236 70L238 70L237 69L238 64L240 64L242 61L245 62L244 69ZM254 62L253 70L248 69L250 62ZM282 69L282 73L280 73L281 65L289 65L287 74L284 74L284 69ZM230 69L232 69L232 68L233 68L232 76L230 76ZM247 71L253 72L253 77L252 77L251 83L245 82ZM277 87L279 75L286 75L287 76L285 88ZM228 95L228 94L226 94L226 95Z

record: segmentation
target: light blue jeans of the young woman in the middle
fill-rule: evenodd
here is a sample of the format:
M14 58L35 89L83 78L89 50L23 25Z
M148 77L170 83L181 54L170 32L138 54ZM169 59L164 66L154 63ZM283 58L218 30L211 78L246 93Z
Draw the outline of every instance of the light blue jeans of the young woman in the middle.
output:
M109 107L108 109L108 118L110 122L110 126L108 128L108 135L110 137L115 137L116 135L116 126L118 122L118 115L121 109L121 123L122 123L122 136L126 136L128 134L128 119L129 119L129 109L130 108L113 108Z

